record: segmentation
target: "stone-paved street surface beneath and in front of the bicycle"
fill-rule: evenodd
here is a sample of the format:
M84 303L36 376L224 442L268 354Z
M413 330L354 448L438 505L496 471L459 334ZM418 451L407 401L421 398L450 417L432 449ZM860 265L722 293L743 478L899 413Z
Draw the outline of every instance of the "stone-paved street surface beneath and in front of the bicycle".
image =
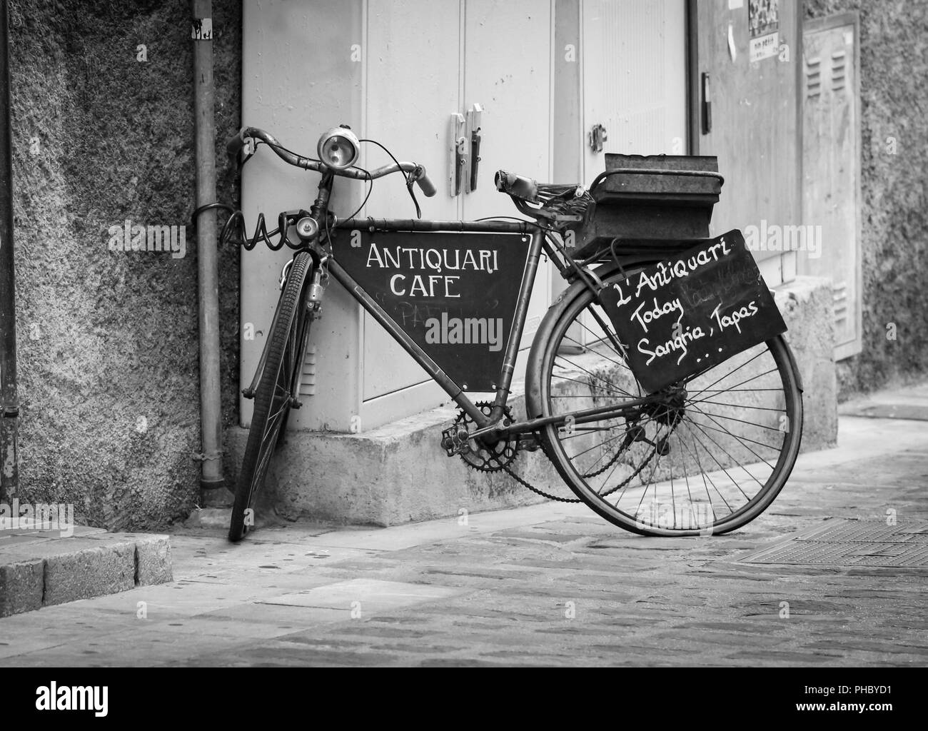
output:
M2 619L0 664L923 666L925 569L740 559L825 520L928 519L926 485L928 422L845 416L839 448L725 536L645 538L557 504L175 534L173 584Z

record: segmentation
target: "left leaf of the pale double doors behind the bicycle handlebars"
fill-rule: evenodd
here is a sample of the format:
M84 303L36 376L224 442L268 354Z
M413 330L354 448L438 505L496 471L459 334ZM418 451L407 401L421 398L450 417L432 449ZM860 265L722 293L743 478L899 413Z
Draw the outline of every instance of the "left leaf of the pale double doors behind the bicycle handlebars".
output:
M445 135L450 112L458 109L460 0L406 2L367 0L367 89L364 135L389 147L397 160L425 165L438 188L425 198L416 188L423 218L459 217L458 199L443 185L448 165ZM409 32L416 43L407 42ZM428 59L425 62L425 59ZM370 170L391 160L379 147L364 145L361 164ZM374 184L362 215L414 218L415 207L400 175ZM364 429L431 408L447 400L445 391L377 321L363 314Z

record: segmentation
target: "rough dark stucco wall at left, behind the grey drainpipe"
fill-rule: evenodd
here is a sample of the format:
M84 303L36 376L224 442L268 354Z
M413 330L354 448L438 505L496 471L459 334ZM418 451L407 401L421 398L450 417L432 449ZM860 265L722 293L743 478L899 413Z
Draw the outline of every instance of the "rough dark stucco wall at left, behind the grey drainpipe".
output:
M213 2L213 19L228 200L221 140L240 117L240 4ZM195 230L183 258L108 244L126 219L184 225L193 210L190 4L10 0L10 26L19 498L73 503L111 529L163 527L199 499ZM221 261L233 424L238 252Z

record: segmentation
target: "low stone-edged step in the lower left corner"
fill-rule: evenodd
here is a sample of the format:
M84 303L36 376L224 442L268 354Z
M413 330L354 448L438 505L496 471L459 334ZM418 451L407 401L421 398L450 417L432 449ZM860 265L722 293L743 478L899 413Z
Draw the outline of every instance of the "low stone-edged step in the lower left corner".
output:
M0 617L170 581L167 535L0 531Z

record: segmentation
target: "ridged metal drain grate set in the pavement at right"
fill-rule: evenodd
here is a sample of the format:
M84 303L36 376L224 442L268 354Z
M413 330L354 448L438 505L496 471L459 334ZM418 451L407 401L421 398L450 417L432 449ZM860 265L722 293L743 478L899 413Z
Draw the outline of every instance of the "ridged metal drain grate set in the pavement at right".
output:
M830 520L789 541L756 551L741 563L928 568L928 522Z

